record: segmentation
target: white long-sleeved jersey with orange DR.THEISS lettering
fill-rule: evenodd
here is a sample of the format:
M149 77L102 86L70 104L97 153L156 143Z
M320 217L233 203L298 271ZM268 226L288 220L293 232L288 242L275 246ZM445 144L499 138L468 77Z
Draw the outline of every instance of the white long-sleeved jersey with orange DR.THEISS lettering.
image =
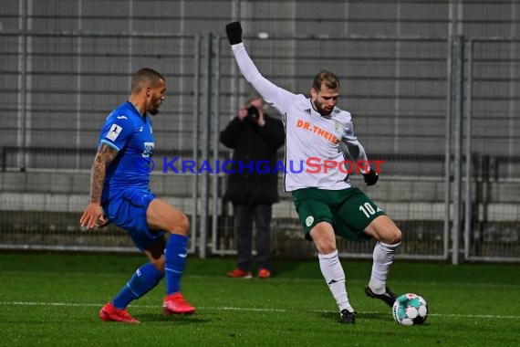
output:
M348 173L356 172L357 162L362 163L361 172L369 170L367 154L354 134L348 111L335 107L330 115L321 115L304 95L293 94L265 79L243 43L232 48L244 78L284 117L286 192L309 187L348 188Z

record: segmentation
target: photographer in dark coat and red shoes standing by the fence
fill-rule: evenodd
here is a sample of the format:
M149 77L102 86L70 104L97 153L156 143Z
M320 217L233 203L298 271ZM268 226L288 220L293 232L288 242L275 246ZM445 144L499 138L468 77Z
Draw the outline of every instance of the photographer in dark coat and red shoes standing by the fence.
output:
M234 150L224 202L233 203L238 259L237 268L228 276L252 277L255 221L257 275L267 279L271 276L272 207L279 200L276 151L285 142L284 124L266 114L264 100L254 97L220 133L220 142Z

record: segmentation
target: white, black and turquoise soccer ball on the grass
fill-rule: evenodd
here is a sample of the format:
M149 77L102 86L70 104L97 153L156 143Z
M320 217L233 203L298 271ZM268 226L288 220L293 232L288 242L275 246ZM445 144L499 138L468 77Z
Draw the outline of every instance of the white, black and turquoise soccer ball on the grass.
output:
M414 293L402 294L392 307L393 319L402 325L422 324L428 317L428 304Z

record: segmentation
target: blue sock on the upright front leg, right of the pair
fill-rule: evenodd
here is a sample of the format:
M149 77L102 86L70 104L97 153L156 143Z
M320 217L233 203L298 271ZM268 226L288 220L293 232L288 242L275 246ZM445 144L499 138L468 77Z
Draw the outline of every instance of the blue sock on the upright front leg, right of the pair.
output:
M166 243L164 250L164 276L166 278L166 294L176 293L181 290L181 277L188 258L188 237L172 234Z

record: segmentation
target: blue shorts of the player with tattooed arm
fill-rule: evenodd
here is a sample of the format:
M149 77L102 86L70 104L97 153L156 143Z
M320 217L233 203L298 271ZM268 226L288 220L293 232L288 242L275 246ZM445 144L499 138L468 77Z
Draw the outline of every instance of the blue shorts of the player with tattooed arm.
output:
M155 195L150 189L127 188L103 203L103 210L109 221L125 229L135 246L140 250L149 249L164 236L164 231L151 232L146 221L146 210Z

